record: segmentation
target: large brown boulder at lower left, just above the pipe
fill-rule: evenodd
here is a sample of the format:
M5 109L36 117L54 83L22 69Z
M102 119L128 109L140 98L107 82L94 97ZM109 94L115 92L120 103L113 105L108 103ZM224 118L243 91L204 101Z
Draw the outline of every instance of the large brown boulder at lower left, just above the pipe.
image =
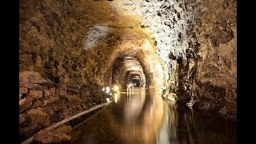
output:
M50 126L50 116L46 112L38 109L28 110L26 113L31 118L32 123L38 123L43 127Z

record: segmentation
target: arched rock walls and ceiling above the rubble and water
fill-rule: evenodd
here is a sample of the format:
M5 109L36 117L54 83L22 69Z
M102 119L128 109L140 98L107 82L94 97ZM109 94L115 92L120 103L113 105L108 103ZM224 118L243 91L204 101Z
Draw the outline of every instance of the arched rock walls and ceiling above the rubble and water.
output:
M21 72L106 86L138 70L164 97L236 115L236 1L21 0L19 13ZM136 66L115 67L124 56Z

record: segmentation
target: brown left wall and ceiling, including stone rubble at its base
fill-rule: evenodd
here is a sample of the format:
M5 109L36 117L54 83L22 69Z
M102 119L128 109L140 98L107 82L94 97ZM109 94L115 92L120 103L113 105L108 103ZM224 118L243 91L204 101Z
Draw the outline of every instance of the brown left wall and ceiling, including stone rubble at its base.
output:
M119 55L133 54L148 82L161 86L162 66L138 7L130 1L19 2L21 139L106 102L102 86L111 84Z

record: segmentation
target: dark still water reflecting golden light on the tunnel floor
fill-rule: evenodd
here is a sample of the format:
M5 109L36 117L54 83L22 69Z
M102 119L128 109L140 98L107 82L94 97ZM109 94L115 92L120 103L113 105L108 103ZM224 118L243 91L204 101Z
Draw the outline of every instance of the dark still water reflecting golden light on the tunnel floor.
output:
M154 90L134 89L114 99L65 143L237 143L236 122L202 117Z

